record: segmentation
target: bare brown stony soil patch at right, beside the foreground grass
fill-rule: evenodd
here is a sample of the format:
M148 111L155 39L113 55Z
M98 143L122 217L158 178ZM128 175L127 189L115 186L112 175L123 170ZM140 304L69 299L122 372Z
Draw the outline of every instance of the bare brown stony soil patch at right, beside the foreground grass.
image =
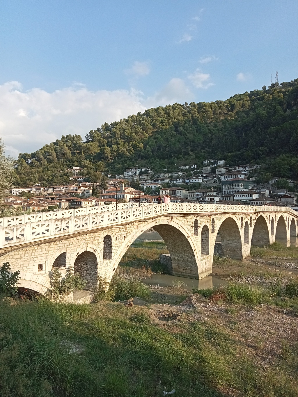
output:
M298 316L289 309L214 303L194 294L179 305L151 304L147 310L151 321L169 332L181 332L181 327L177 328L181 322L220 327L236 341L239 355L245 351L255 365L263 368L282 364L292 353L298 353Z

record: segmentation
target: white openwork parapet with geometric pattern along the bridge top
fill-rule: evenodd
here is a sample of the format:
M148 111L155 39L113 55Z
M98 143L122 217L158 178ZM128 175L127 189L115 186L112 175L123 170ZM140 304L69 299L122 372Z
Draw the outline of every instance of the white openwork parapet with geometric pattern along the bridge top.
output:
M132 204L119 204L120 208L117 211L116 205L112 204L110 206L87 207L79 210L61 210L58 214L57 212L42 212L35 215L44 217L46 214L57 214L57 217L35 220L36 218L31 218L31 215L25 215L23 218L20 217L23 223L16 224L13 224L14 219L17 218L15 222L19 222L19 217L12 217L10 218L10 225L0 226L0 248L169 214L216 215L226 213L287 212L295 215L296 218L298 216L297 212L289 207L197 203L147 204L141 206L138 203ZM58 216L61 217L58 218Z

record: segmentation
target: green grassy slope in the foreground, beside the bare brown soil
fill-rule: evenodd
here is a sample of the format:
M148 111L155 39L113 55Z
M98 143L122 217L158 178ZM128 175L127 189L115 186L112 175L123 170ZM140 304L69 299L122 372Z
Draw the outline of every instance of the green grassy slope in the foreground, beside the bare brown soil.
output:
M160 326L150 308L1 301L0 324L3 397L298 395L292 356L258 368L220 326L183 316Z

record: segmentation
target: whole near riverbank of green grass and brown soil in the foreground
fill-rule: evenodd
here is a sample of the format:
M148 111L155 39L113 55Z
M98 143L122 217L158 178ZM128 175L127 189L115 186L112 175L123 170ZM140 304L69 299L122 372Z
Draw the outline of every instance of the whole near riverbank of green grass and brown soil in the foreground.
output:
M1 395L296 396L293 301L233 303L204 295L178 304L152 297L79 306L6 299Z

